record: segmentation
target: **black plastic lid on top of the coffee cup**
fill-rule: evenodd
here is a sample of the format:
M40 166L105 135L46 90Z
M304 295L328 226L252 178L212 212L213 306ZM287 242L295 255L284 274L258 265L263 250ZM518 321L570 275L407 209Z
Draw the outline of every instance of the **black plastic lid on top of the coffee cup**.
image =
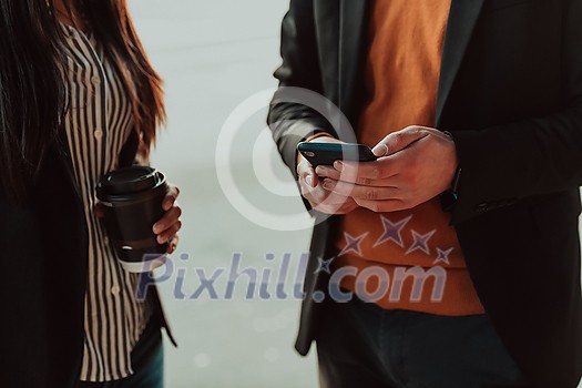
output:
M156 187L163 175L147 166L132 166L113 171L99 182L98 196L127 195Z

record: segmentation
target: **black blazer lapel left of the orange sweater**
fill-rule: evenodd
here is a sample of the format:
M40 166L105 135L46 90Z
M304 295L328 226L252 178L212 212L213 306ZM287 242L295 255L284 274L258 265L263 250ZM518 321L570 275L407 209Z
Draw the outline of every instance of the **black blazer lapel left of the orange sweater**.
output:
M366 0L339 0L339 108L354 103L356 75L360 64ZM348 112L345 112L348 113Z

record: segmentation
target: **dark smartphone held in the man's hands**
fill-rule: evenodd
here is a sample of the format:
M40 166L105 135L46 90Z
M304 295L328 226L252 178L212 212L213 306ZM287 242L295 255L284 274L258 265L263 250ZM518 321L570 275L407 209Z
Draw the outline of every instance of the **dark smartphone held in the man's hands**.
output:
M335 161L374 162L378 159L370 147L364 144L302 142L297 144L297 151L314 167L333 165Z

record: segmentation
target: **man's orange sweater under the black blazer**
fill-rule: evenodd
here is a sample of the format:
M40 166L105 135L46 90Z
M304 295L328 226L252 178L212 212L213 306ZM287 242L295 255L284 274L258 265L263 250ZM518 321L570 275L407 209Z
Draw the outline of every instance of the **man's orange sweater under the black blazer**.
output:
M374 146L409 125L436 125L449 8L450 0L372 2L366 68L370 100L358 126L361 143ZM389 214L358 208L344 217L341 229L335 268L349 266L358 274L344 276L339 282L344 288L360 295L366 290L389 309L449 316L483 313L438 198Z

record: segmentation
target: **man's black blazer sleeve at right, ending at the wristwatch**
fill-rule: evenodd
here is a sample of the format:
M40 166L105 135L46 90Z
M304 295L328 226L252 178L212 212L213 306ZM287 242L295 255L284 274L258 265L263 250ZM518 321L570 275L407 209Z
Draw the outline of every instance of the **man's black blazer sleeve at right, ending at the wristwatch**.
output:
M484 131L452 132L462 167L453 224L499 204L582 185L582 0L565 2L563 110Z

